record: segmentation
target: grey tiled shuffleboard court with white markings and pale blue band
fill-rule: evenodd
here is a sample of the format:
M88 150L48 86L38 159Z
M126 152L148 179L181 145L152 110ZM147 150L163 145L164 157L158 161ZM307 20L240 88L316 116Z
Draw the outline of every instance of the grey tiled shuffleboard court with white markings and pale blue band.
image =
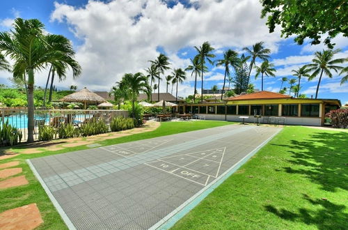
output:
M280 129L226 125L28 162L70 229L157 228Z

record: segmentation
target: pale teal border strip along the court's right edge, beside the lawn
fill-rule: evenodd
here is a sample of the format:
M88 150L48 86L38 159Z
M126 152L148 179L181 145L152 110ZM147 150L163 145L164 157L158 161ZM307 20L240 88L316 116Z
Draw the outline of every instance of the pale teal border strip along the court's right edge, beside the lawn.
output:
M240 167L242 167L243 164L245 164L253 155L258 153L260 149L265 146L271 139L276 137L280 131L282 131L283 128L278 130L277 132L274 133L274 135L271 135L267 140L262 142L259 146L257 146L253 151L248 153L248 155L244 156L241 160L239 160L236 164L234 164L230 169L225 171L223 174L221 174L218 178L216 178L214 181L209 183L206 187L203 187L202 190L197 192L196 194L193 195L190 199L185 201L183 204L181 204L179 207L175 208L171 213L166 215L162 220L159 220L155 225L153 225L150 230L155 230L155 229L170 229L171 227L174 226L176 222L178 222L182 217L187 215L193 208L198 206L200 204L200 201L203 201L205 197L207 197L211 192L215 190L216 187L219 187L223 181L226 181L227 178L229 178L232 174L237 171Z

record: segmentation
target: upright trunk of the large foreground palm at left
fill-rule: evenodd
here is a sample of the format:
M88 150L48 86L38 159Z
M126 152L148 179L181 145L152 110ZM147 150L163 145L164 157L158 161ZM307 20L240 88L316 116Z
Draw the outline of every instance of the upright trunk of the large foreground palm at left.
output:
M27 142L34 141L34 70L28 71L28 139Z

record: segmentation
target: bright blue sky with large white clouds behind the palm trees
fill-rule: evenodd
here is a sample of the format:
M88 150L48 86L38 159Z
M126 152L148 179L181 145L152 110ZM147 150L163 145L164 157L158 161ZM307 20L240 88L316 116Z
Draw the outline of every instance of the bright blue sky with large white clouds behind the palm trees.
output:
M185 68L195 55L193 45L205 40L216 48L216 59L226 49L242 51L262 40L272 50L271 62L276 65L276 77L264 79L264 89L279 91L281 77L291 78L291 70L309 63L313 52L323 45L294 44L293 38L280 38L279 29L268 33L260 19L260 3L253 0L202 1L1 1L0 30L9 30L15 17L38 18L49 33L63 34L72 40L77 59L83 68L78 79L68 76L65 82L56 82L58 88L76 84L92 90L108 91L125 72L143 71L148 60L158 52L165 52L173 68ZM337 57L348 56L348 40L335 38ZM258 63L259 64L259 63ZM167 72L166 74L169 74ZM189 75L189 74L188 74ZM36 84L44 85L47 71L38 72ZM10 84L10 74L0 72L0 84ZM221 87L223 70L209 66L205 89L214 84ZM260 79L253 79L260 89ZM315 95L317 79L303 82L301 92ZM348 84L340 86L340 76L324 77L319 98L338 98L348 102ZM160 89L165 90L164 82ZM179 87L179 95L193 91L193 79Z

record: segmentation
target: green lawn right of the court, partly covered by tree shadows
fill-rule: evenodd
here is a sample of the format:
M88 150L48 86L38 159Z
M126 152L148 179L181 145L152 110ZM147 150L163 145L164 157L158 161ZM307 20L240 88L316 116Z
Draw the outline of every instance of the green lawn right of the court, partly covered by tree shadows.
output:
M347 206L348 132L287 127L173 229L348 229Z

